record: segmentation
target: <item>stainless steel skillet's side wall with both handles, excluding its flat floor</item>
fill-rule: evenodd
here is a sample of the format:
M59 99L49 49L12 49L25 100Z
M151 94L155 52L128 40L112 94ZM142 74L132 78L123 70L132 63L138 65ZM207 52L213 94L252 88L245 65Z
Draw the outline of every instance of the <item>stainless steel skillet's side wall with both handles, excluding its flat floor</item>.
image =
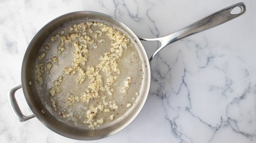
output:
M238 14L230 14L230 11L233 8L239 7L241 8L241 12ZM151 60L156 56L156 54L164 48L166 45L176 41L180 40L184 37L187 37L189 35L207 30L209 28L212 28L214 26L223 24L231 19L234 19L240 15L243 15L245 13L245 5L243 3L238 3L235 5L232 5L230 7L224 8L214 14L211 14L185 28L182 28L181 30L172 33L170 35L167 35L165 37L161 38L153 38L153 39L146 39L146 38L138 38L133 31L127 27L122 22L118 21L117 19L102 14L98 12L90 12L90 11L80 11L80 12L73 12L69 14L65 14L63 16L60 16L47 25L45 25L32 39L31 43L29 44L27 51L25 53L23 63L22 63L22 71L21 71L21 78L22 78L22 85L18 87L14 87L8 91L8 99L9 103L11 105L11 109L14 113L14 115L19 119L20 121L26 121L28 119L31 119L33 117L37 117L45 126L47 126L52 131L56 132L57 134L73 138L73 139L79 139L79 140L94 140L94 139L100 139L104 138L110 135L113 135L123 128L125 128L129 123L132 122L133 119L139 114L141 108L143 107L145 100L148 95L149 91L149 85L150 85L150 66L149 63ZM56 29L63 26L63 24L66 24L70 21L74 20L97 20L101 22L111 23L113 25L116 25L120 29L122 29L122 32L126 33L130 36L130 38L133 40L133 43L136 45L136 49L143 60L143 71L144 71L144 80L142 81L143 84L140 87L140 95L141 98L138 100L135 108L131 113L126 115L122 120L119 122L116 122L115 124L112 124L111 126L108 126L106 128L102 128L99 130L85 130L76 128L75 126L67 125L66 123L57 120L54 118L54 116L45 108L42 101L40 100L40 95L38 95L36 89L34 88L34 59L37 58L39 48L38 45L42 45L44 41L51 35ZM154 53L154 55L148 60L146 52L144 50L144 47L142 46L140 40L146 40L146 41L155 41L159 40L161 42L161 47ZM16 90L20 89L22 87L26 101L31 108L34 115L31 116L25 116L21 113L18 104L15 100L14 93Z

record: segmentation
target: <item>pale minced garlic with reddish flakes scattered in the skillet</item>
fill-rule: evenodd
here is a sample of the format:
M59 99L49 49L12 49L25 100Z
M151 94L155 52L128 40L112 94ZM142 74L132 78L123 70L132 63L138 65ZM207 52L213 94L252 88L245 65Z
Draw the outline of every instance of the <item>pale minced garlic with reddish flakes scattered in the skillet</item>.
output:
M92 26L96 26L97 30L92 30L95 28ZM73 74L76 76L76 84L83 84L85 83L85 81L89 81L88 85L85 86L84 92L82 92L80 95L66 95L66 100L68 101L67 107L71 106L75 102L81 102L85 104L90 103L92 100L101 97L101 101L100 103L97 103L97 105L89 104L90 108L86 111L86 119L84 121L84 123L87 124L89 128L95 129L96 126L98 127L100 124L104 123L104 120L106 120L103 118L98 119L98 113L111 114L109 116L109 119L113 120L113 112L115 111L115 109L118 109L118 106L122 106L119 105L116 101L105 100L106 96L112 96L112 92L114 92L115 90L111 86L115 83L118 77L114 76L114 73L120 73L118 69L117 59L122 58L123 52L127 49L129 39L126 38L127 35L118 31L115 27L107 26L103 23L97 22L74 24L73 26L70 26L66 29L74 31L74 33L69 32L69 34L65 35L65 31L62 30L60 34L56 34L55 36L51 37L51 41L60 41L59 45L57 46L58 55L61 55L63 51L66 50L66 48L69 48L72 45L74 46L74 50L72 51L73 62L71 63L71 65L67 65L64 68L64 71L62 71L62 74L66 74L66 77L64 79L67 79L68 75ZM86 65L86 62L88 60L88 53L90 52L88 47L93 46L94 48L98 48L98 45L95 42L94 38L98 39L97 41L100 42L98 43L99 45L102 45L102 43L105 42L105 39L101 38L102 34L104 34L104 36L107 35L112 40L110 51L102 53L102 56L99 57L99 62L96 64L96 66ZM49 49L49 46L47 46L48 45L45 45L45 50ZM42 58L43 57L44 56L42 56ZM58 56L52 57L51 61L55 65L58 65ZM46 72L49 73L53 65L52 63L47 63ZM82 68L85 65L87 69ZM41 72L43 72L43 67L41 69L41 66L38 66L37 71L39 72L38 78L40 78L42 74ZM105 77L105 81L103 81L102 76ZM49 91L52 97L60 92L60 85L62 83L62 80L63 76L59 76L59 78L57 78L53 82L53 87L50 88ZM126 93L126 91L129 89L130 83L131 77L128 76L126 81L124 81L121 92ZM100 91L104 91L107 94L104 94L103 96ZM56 111L56 102L53 99L51 99L51 101L52 107ZM126 107L129 107L131 105L131 103L127 103ZM60 115L62 115L63 118L73 118L73 113L66 114L61 112Z

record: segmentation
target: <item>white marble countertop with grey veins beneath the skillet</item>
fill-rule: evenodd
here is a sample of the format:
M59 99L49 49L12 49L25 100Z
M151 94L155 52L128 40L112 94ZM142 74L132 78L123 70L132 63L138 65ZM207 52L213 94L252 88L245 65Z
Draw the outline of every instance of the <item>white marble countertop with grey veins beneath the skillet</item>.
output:
M83 142L54 133L36 118L19 122L7 100L7 91L21 84L28 44L54 18L98 11L139 37L156 38L238 2L245 3L245 15L164 48L151 62L151 86L137 118L115 135L88 142L256 142L254 0L0 1L1 142ZM158 47L142 43L148 56ZM32 114L22 90L16 98L22 112Z

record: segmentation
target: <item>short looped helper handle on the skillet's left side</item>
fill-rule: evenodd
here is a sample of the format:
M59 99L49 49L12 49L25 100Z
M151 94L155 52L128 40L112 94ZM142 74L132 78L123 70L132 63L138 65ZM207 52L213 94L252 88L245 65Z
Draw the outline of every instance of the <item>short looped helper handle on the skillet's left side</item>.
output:
M16 101L16 98L14 96L15 92L20 88L21 88L21 85L11 88L10 90L8 90L7 96L8 96L8 101L11 106L11 110L12 110L13 114L19 121L24 122L26 120L34 118L35 115L25 116L22 114L20 107L19 107L19 105Z

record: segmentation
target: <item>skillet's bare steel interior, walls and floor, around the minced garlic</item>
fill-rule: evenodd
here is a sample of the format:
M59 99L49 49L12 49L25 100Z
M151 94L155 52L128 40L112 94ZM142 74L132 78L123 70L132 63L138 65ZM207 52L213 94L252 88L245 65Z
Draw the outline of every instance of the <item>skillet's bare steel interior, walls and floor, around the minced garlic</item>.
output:
M122 34L127 35L129 44L128 48L123 51L123 56L116 59L119 73L113 72L112 74L113 77L117 77L111 85L111 88L113 88L112 96L107 91L99 91L99 98L92 98L88 103L81 102L80 98L80 101L75 100L74 103L71 103L68 97L81 97L83 93L87 92L90 80L86 78L80 84L77 83L78 71L75 74L65 74L64 69L72 65L74 41L71 45L64 44L65 51L62 51L59 55L57 47L60 44L60 39L54 41L51 39L56 34L65 36L74 33L70 30L70 27L74 24L87 22L103 23L115 27ZM91 34L89 34L90 30L93 31ZM94 44L87 47L89 51L87 62L85 65L81 65L81 69L85 72L88 71L88 67L96 68L100 62L99 58L111 51L113 40L109 39L104 33L98 38L93 37L97 30L99 30L98 27L92 26L85 31L94 40L94 43L98 43L97 47ZM102 39L105 40L104 43L100 42ZM29 71L23 70L28 77L26 80L32 83L32 85L27 86L30 90L25 91L31 92L29 93L30 96L25 96L35 116L54 132L81 140L98 139L113 135L127 126L141 110L148 94L150 82L147 56L140 41L137 42L135 39L138 41L136 35L127 26L112 17L95 12L67 14L43 27L30 43L26 52L28 60L25 64L23 63L26 65L25 70ZM44 48L46 45L49 46L48 50ZM42 53L45 56L39 59L38 57L42 56ZM53 62L53 57L56 57L58 62ZM50 70L47 69L48 63L52 64ZM43 73L40 75L43 79L41 84L37 74L40 64L43 67L43 70L41 70ZM100 71L99 74L102 75L103 85L107 85L106 73ZM50 90L54 87L54 81L59 80L60 76L62 76L62 82L59 85L60 91L52 96ZM131 82L129 83L129 89L124 93L122 88L128 77L131 77ZM85 122L88 120L86 113L92 107L103 104L103 97L104 102L108 105L105 105L103 110L99 111L97 116L94 117L94 121L103 119L104 123L97 124L94 128L90 127L91 124ZM32 105L34 103L29 103L30 101L36 104ZM113 105L117 105L118 108L113 107ZM107 109L109 111L105 112ZM90 112L93 113L93 111ZM113 115L114 119L111 119L110 116Z

